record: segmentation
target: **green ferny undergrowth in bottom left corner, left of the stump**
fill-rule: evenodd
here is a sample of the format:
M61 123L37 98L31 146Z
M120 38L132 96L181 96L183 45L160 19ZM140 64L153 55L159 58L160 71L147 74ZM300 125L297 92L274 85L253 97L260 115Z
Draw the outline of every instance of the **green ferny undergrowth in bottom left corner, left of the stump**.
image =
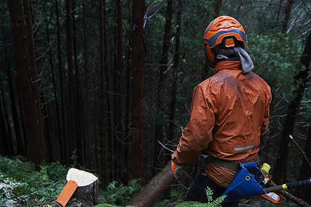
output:
M66 184L66 173L59 162L41 166L37 172L30 162L0 157L0 206L54 199Z

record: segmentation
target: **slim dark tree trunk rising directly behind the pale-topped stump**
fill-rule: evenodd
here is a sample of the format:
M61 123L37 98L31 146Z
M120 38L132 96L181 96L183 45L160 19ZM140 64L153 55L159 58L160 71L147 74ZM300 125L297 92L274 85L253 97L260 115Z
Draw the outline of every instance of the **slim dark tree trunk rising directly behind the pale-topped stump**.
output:
M88 26L86 24L86 3L83 2L83 48L84 48L84 83L86 86L86 135L84 137L84 147L86 166L90 168L90 86L88 83L89 71L88 71Z

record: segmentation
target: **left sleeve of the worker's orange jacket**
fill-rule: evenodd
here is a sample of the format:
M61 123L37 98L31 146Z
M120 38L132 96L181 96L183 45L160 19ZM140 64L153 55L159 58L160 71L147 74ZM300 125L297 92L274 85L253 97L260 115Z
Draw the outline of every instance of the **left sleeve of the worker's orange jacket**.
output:
M215 117L214 103L209 94L206 86L200 84L194 88L190 121L183 129L177 150L172 154L174 164L185 166L194 161L212 141Z

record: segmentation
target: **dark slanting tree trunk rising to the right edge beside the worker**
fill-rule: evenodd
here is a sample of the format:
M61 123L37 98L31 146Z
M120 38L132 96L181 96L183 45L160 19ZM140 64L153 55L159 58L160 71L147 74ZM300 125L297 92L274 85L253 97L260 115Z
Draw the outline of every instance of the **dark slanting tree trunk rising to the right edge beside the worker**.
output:
M305 90L305 84L308 81L308 72L310 71L310 61L311 61L311 32L305 43L305 49L300 59L305 70L301 70L299 74L294 77L294 86L297 89L293 92L292 101L288 106L288 112L285 119L285 124L283 126L283 134L281 139L281 144L279 147L279 153L277 156L277 161L274 166L273 179L276 184L281 184L285 177L286 165L288 162L288 152L290 151L290 135L294 130L294 124L297 117L297 111L299 110L300 102L303 97L303 91Z

